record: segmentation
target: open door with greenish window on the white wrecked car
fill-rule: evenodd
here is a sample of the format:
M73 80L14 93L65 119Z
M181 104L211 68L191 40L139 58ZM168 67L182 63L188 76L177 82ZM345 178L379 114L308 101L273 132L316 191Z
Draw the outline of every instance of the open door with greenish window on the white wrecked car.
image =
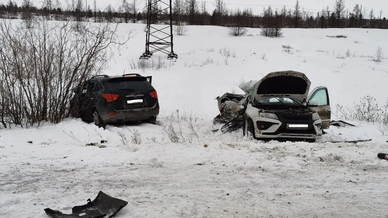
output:
M331 108L327 88L325 86L315 88L307 99L307 106L315 110L322 120L322 129L329 129Z

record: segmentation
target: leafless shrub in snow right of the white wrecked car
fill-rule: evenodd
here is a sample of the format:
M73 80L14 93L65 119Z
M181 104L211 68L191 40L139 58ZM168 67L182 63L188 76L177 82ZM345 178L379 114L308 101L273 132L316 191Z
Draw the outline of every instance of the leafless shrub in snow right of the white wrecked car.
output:
M334 115L340 119L371 122L371 123L388 123L388 101L385 105L379 106L376 98L364 96L359 103L353 103L352 107L336 105Z

